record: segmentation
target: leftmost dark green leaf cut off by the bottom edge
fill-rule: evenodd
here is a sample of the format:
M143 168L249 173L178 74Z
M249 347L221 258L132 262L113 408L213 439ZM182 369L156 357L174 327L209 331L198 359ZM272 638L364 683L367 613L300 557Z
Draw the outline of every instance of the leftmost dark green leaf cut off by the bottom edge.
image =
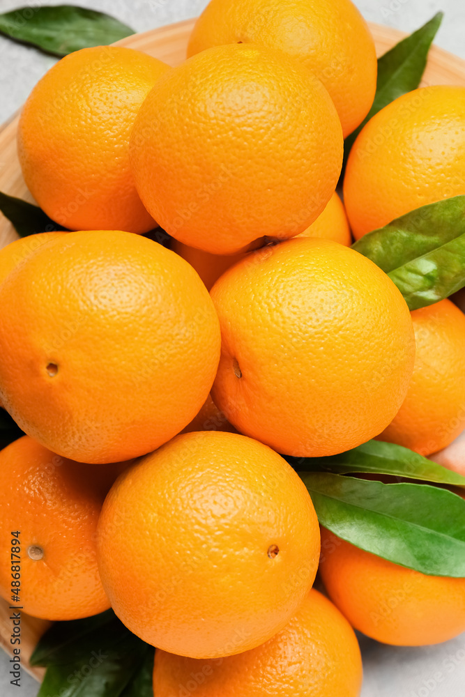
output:
M49 665L38 697L119 697L139 670L145 647L128 630L110 646L95 641L79 661Z

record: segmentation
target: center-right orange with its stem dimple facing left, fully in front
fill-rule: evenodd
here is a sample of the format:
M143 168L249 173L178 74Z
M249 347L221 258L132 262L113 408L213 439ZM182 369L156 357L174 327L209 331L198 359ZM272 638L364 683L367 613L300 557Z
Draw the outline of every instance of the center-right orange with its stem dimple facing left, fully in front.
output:
M411 316L365 256L288 240L227 270L211 297L222 331L212 397L241 433L319 457L365 443L399 411L415 355Z

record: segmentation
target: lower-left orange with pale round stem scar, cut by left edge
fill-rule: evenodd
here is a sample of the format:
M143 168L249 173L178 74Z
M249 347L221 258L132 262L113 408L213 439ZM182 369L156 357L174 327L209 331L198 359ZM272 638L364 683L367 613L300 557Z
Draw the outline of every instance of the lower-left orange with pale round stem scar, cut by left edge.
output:
M76 620L109 608L96 552L106 491L94 470L29 436L0 452L0 595L14 606L11 589L19 588L29 615Z

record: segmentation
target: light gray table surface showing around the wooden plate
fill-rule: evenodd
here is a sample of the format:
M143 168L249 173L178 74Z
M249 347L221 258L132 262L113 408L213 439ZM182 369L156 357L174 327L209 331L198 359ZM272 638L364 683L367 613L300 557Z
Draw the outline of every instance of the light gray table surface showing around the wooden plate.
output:
M64 2L44 0L47 5ZM111 13L136 31L146 31L195 17L207 2L79 0L75 4ZM28 4L37 6L39 3L36 0L0 0L0 11ZM465 59L465 0L356 0L356 5L367 20L404 31L417 29L438 10L443 10L445 19L436 44ZM0 37L0 123L22 105L34 84L53 63L50 56ZM360 645L365 669L363 697L465 697L465 634L454 641L425 648L388 647L365 637L360 638ZM9 682L9 670L8 659L0 652L0 696L36 697L37 682L23 673L22 686L13 687Z

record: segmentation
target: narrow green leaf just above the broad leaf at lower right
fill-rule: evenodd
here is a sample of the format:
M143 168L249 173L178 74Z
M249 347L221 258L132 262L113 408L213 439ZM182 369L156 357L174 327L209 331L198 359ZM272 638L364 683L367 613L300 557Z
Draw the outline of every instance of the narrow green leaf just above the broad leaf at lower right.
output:
M306 472L370 473L465 487L465 477L395 443L368 441L330 457L287 458Z

